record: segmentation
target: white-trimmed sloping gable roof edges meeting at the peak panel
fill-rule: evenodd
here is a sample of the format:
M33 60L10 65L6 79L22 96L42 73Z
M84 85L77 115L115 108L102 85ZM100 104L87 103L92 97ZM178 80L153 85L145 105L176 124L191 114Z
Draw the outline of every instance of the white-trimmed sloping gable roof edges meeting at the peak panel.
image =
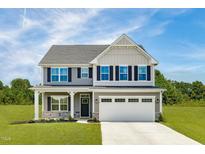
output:
M142 48L140 45L135 43L129 36L126 34L122 34L120 37L118 37L109 47L107 47L103 52L101 52L97 57L95 57L90 63L95 64L97 63L97 59L103 56L105 53L109 51L109 49L112 46L134 46L136 47L142 54L144 54L146 57L151 59L151 63L154 65L158 64L158 61L153 58L144 48Z

